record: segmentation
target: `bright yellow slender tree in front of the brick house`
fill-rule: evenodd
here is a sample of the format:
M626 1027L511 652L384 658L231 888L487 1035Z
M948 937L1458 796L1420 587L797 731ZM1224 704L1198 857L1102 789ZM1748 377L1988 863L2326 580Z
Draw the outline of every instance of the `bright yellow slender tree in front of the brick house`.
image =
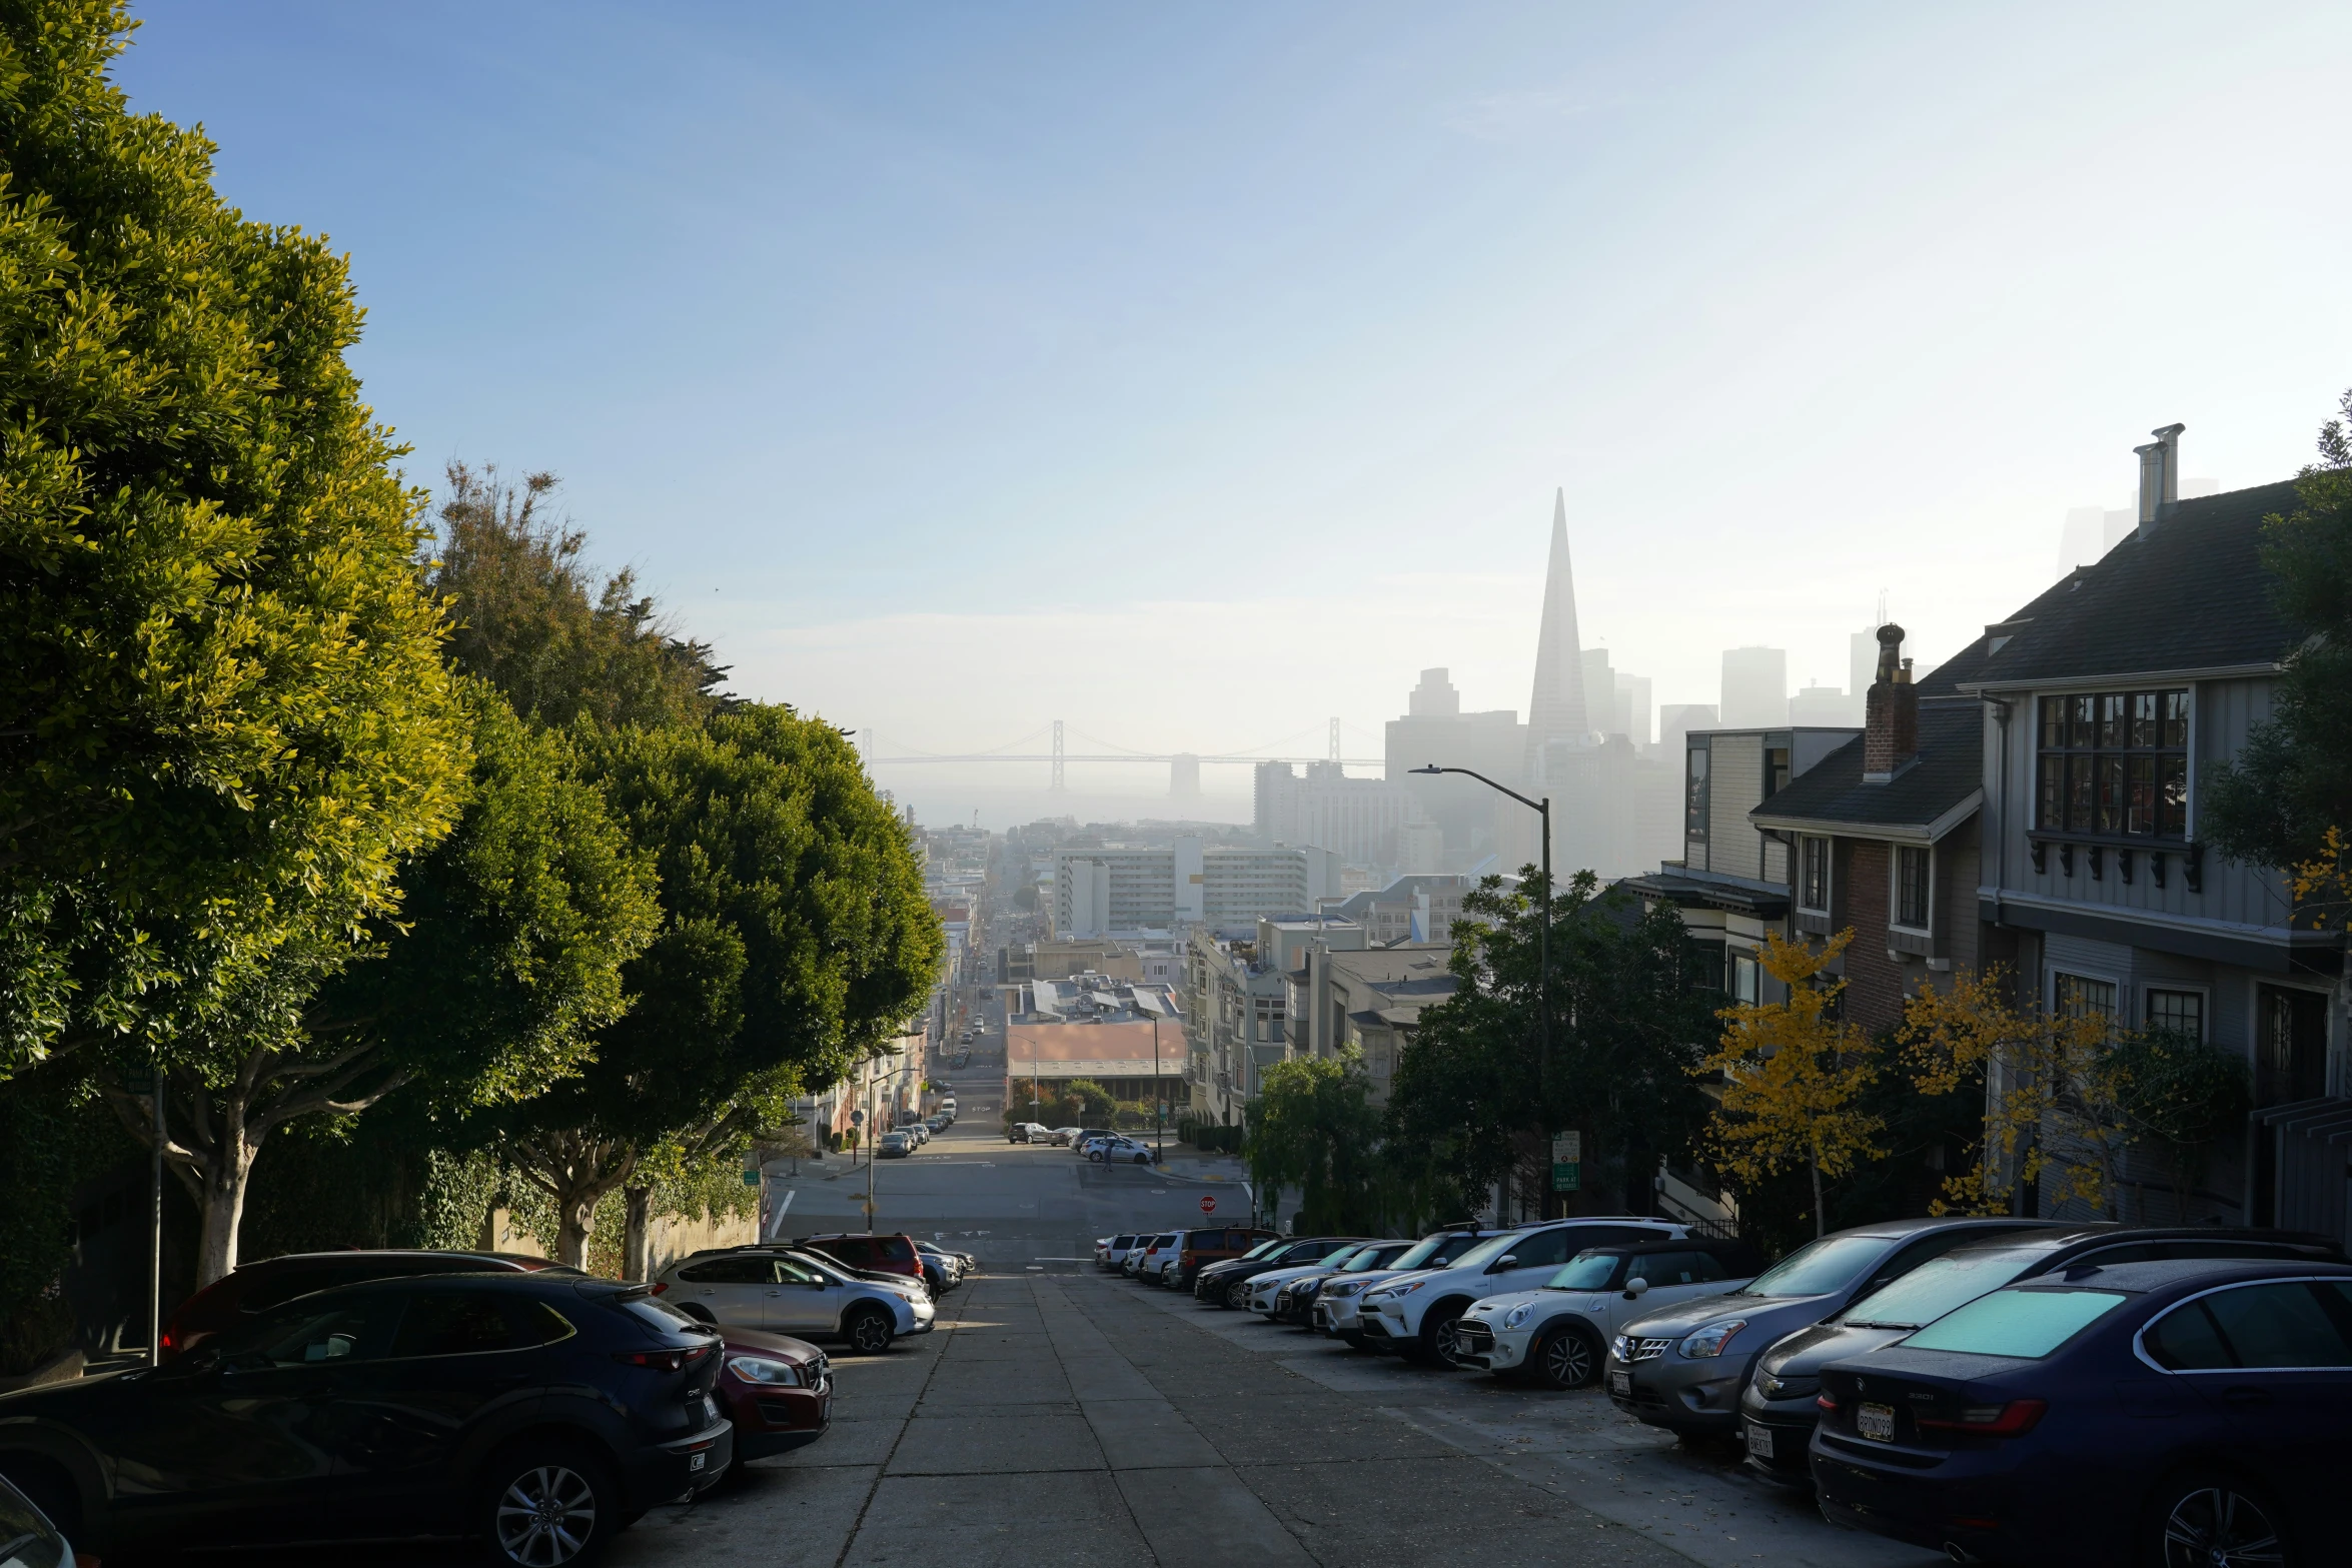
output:
M1828 1229L1820 1182L1884 1150L1884 1121L1863 1105L1879 1077L1877 1048L1835 1016L1844 980L1825 978L1853 940L1839 931L1820 952L1764 938L1764 973L1785 1001L1743 1001L1719 1013L1724 1037L1696 1072L1722 1072L1724 1098L1708 1124L1717 1168L1755 1182L1792 1164L1813 1173L1813 1234Z

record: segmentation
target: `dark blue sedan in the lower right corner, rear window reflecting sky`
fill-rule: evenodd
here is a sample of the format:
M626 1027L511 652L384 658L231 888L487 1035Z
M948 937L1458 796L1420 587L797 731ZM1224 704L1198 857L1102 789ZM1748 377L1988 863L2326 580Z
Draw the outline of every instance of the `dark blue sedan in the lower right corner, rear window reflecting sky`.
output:
M2343 1561L2352 1267L2079 1265L1820 1368L1835 1523L1955 1561Z

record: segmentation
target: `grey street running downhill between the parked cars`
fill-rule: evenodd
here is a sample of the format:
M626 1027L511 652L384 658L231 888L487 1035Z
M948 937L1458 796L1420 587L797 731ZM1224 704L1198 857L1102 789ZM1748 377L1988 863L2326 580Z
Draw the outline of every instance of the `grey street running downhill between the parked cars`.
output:
M833 1432L656 1509L616 1566L1592 1563L1926 1568L1825 1526L1729 1450L1684 1450L1599 1394L1411 1368L1103 1276L1105 1232L1247 1213L1230 1161L1101 1168L995 1117L873 1171L875 1222L985 1276L941 1328L844 1356ZM863 1225L866 1168L802 1166L786 1234Z

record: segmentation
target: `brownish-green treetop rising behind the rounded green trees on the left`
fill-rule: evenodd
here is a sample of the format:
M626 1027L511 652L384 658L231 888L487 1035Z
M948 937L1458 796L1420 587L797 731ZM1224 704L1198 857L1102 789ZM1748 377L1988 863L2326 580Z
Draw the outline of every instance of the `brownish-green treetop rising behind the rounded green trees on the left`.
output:
M548 726L696 724L724 708L710 646L677 637L633 571L597 581L588 536L543 512L557 484L449 465L428 567L456 628L449 658Z

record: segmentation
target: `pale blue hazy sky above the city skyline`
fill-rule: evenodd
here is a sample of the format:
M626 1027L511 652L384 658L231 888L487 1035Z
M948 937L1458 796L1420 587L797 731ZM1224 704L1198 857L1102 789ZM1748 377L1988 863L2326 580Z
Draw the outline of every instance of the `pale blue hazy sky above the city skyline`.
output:
M1555 487L1661 703L1844 684L1882 588L1933 661L2046 585L2152 425L2258 484L2352 383L2345 5L141 14L134 106L350 252L419 482L553 468L884 750L1524 710Z

